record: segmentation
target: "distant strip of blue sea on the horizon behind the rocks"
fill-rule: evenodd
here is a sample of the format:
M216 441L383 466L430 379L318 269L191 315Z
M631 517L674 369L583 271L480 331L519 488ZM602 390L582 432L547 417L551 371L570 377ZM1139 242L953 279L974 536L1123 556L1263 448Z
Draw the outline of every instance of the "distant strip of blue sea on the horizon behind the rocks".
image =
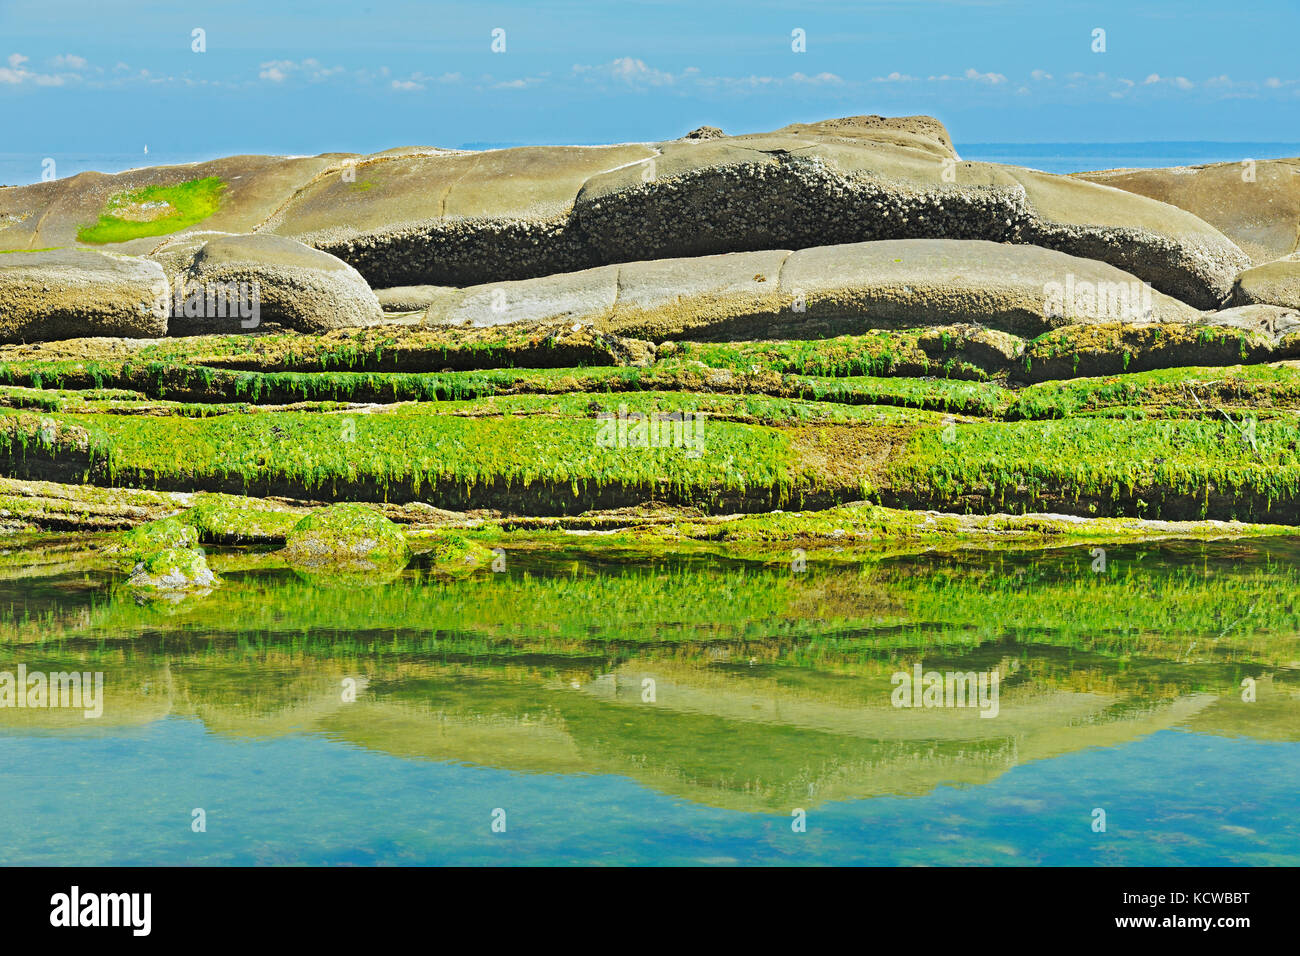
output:
M484 143L467 143L463 148L485 148ZM524 146L524 143L493 143L491 146ZM1121 166L1190 166L1201 163L1240 163L1253 159L1279 159L1300 156L1300 143L958 143L957 152L963 160L1008 163L1031 166L1048 173L1079 173L1088 169L1117 169ZM0 152L0 185L22 186L39 182L47 156L40 153ZM120 173L135 166L202 163L213 155L178 153L160 150L144 153L83 152L62 153L55 160L57 178L87 170Z

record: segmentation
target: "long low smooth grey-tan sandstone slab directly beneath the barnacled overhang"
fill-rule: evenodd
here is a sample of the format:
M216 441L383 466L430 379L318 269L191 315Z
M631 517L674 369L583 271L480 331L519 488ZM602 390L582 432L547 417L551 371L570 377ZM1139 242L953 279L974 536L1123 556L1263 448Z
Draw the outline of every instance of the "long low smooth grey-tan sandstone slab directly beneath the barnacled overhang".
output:
M744 339L980 323L1022 336L1193 323L1131 274L1035 246L894 239L606 265L438 293L428 324L593 323L624 336Z

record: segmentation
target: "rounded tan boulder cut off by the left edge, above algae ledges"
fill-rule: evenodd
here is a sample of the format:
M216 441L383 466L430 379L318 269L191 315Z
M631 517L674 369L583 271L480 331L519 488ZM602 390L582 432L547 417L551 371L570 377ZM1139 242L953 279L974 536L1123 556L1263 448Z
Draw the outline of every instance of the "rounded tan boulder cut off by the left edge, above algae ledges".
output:
M86 248L0 255L0 342L165 336L166 306L157 263Z

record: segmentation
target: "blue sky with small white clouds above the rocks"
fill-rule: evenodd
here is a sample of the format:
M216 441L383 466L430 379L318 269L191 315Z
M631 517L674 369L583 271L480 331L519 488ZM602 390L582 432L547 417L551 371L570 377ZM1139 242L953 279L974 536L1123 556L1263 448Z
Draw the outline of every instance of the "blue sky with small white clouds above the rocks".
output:
M599 143L854 113L937 116L958 148L1295 140L1297 36L1297 0L0 0L0 151Z

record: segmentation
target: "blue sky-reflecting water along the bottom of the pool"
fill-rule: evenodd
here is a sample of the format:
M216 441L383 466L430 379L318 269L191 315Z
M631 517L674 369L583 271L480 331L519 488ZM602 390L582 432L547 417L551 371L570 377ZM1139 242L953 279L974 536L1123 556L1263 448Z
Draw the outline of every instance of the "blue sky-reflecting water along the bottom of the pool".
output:
M403 761L196 721L0 749L5 865L1296 865L1300 745L1162 731L982 787L745 814L625 777ZM1102 796L1104 795L1104 796ZM1113 808L1092 831L1098 803ZM208 813L191 832L191 805ZM506 809L506 832L491 812Z

